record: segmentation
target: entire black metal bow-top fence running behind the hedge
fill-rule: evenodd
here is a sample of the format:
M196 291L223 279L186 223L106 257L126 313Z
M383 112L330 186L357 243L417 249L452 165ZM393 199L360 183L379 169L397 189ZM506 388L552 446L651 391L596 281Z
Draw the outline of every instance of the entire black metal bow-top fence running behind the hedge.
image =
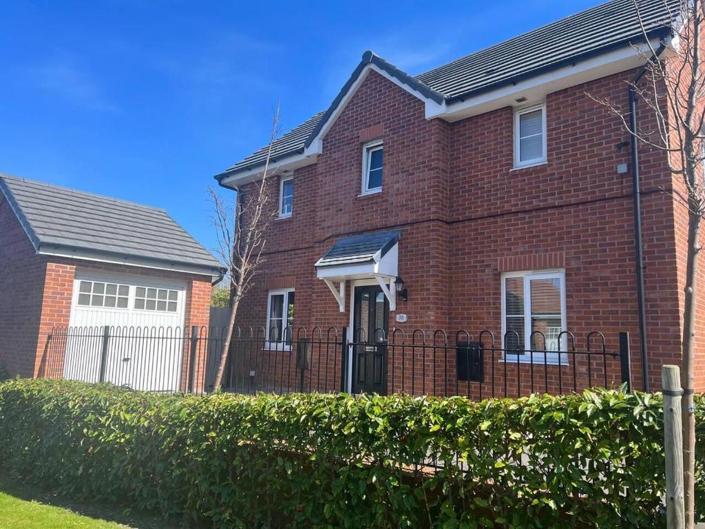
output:
M213 391L226 328L76 327L53 329L41 377L109 382L145 391ZM472 399L564 394L631 386L629 336L589 332L501 338L484 330L403 332L235 329L223 372L226 391L406 393ZM612 347L608 343L613 344Z

